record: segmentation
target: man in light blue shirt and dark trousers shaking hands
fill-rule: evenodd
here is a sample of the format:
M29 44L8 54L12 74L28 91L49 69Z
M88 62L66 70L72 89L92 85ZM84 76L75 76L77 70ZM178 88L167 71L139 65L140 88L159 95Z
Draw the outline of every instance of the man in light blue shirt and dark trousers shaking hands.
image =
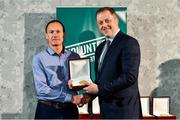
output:
M64 25L51 20L45 28L49 47L33 57L32 69L38 104L35 119L78 119L82 95L77 95L67 86L69 80L69 59L79 55L65 49Z

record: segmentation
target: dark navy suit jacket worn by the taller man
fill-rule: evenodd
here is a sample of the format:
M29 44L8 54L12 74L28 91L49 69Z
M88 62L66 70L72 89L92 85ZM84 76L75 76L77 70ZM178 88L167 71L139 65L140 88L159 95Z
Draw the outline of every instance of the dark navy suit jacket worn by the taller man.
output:
M140 48L137 40L118 32L105 55L101 72L98 72L98 60L104 44L101 43L95 53L101 118L142 117L138 90Z

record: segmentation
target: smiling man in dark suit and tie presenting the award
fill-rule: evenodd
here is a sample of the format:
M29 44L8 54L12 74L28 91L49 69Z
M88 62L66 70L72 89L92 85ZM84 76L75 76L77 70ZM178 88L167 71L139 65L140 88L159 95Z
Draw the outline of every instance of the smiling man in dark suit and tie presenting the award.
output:
M84 90L99 97L101 119L139 119L142 117L138 89L139 44L120 31L112 8L100 8L96 20L99 31L108 40L96 49L96 81L86 83L88 87Z

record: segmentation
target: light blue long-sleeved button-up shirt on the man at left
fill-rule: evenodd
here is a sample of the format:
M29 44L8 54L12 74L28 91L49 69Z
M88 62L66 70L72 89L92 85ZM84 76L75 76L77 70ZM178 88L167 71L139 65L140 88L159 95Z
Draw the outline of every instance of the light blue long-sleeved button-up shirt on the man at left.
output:
M64 50L61 55L51 48L38 53L33 57L32 69L37 99L57 102L71 102L74 91L68 89L69 59L77 59L79 55Z

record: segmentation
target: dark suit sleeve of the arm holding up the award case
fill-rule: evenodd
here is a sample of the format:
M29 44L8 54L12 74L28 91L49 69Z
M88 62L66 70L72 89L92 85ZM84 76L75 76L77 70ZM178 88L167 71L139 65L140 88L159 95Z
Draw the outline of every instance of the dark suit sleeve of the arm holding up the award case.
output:
M98 86L101 97L110 97L114 93L131 87L137 82L140 64L140 47L138 42L133 38L128 39L118 59L118 62L121 62L121 68L117 70L119 75L103 86Z

